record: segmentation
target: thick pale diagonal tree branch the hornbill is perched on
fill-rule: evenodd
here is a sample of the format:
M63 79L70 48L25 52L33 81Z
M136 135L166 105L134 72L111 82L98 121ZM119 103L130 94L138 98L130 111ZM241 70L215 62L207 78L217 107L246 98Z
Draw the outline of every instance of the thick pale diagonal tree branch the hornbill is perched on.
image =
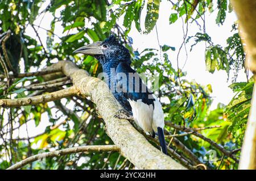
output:
M105 121L106 133L121 154L139 169L185 169L180 163L160 152L152 146L142 134L127 120L114 117L121 106L115 100L108 85L98 78L89 77L85 70L77 68L70 61L60 61L49 69L62 69L72 79L73 85L79 89L80 96L90 96L97 105L98 113Z

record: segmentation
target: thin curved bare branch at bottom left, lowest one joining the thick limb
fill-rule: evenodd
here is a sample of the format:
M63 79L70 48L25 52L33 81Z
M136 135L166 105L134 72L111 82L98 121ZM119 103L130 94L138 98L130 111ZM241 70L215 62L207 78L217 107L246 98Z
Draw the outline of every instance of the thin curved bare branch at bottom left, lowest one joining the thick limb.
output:
M60 157L61 155L81 153L81 152L101 152L101 151L119 151L119 150L120 149L118 148L118 146L115 146L115 145L77 146L73 148L49 151L47 153L33 155L32 157L28 157L26 159L23 159L23 161L15 163L15 165L9 167L7 170L20 169L21 167L23 167L24 165L27 165L28 163L37 161L39 159L48 158L48 157Z

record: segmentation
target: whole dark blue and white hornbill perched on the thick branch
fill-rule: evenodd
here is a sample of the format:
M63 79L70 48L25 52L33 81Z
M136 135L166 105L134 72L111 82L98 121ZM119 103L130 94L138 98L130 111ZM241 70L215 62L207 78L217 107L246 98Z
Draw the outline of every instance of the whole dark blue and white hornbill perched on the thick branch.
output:
M131 68L129 50L111 35L103 42L97 41L78 48L74 53L89 54L100 61L104 73L108 75L109 88L123 107L116 117L133 119L152 137L155 137L157 132L162 151L167 154L162 106L156 96L144 85L138 73Z

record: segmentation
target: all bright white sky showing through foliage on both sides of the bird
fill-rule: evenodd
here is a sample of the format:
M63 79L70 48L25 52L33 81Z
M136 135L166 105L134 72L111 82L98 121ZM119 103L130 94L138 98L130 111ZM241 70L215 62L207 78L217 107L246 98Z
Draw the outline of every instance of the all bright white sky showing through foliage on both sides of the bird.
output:
M50 1L47 0L40 8L40 10L44 10L44 8L48 5ZM169 57L172 61L172 65L174 68L177 67L176 64L176 57L178 49L183 41L183 30L182 30L182 22L181 19L177 20L174 24L169 24L169 16L172 13L171 11L171 3L168 1L162 1L160 3L160 13L159 13L159 19L157 22L158 27L158 35L159 35L159 41L160 45L170 45L172 47L175 47L176 50L174 52L169 51ZM61 7L56 12L56 16L60 16L60 10L64 9L64 7ZM144 17L146 16L146 9L143 9L141 21L144 22ZM227 14L226 20L223 26L218 27L215 23L215 19L217 16L217 10L214 11L212 14L206 14L206 31L210 37L212 37L212 41L214 44L220 44L222 46L226 45L226 39L229 36L233 35L233 32L230 32L232 30L232 24L234 21L236 21L236 15L234 12L231 14ZM43 28L46 28L47 30L50 29L50 23L53 19L53 16L49 13L46 13L45 15L42 14L38 19L35 20L34 24L39 25ZM87 24L87 23L86 23ZM122 17L119 20L119 24L122 24ZM55 33L59 36L63 36L63 28L61 27L61 22L58 22L55 26ZM71 31L70 33L75 33L77 31ZM188 26L188 36L195 35L196 32L200 32L199 27L193 23L189 24ZM34 30L32 30L31 27L28 27L26 29L26 33L34 38L36 38ZM39 36L41 37L44 46L46 46L46 37L47 32L41 28L38 29ZM67 33L67 32L65 32ZM64 34L65 35L65 34ZM129 33L129 36L133 39L133 48L138 49L139 52L144 50L145 48L156 48L159 49L158 40L156 36L156 31L152 31L148 35L143 35L137 31L137 29L134 26L131 28L131 31ZM36 38L37 39L37 38ZM60 41L56 37L56 42ZM188 50L188 60L187 63L184 66L183 71L187 71L187 79L192 81L195 80L196 82L200 83L201 85L212 85L213 93L211 96L214 97L214 101L211 107L211 110L217 107L218 103L224 103L228 104L229 101L233 97L232 90L229 89L229 85L231 84L231 80L227 82L227 74L225 71L216 71L214 74L209 73L205 70L205 61L204 61L204 50L205 50L205 44L199 43L195 47L193 47L192 52L189 52L190 46L193 44L193 40L190 41L190 43L187 45ZM185 51L184 49L181 50L180 57L179 57L179 67L182 68L185 63ZM53 62L56 60L53 60ZM46 65L45 62L42 63L42 66ZM36 71L36 69L31 68L31 71ZM230 75L232 77L232 75ZM237 81L246 81L245 74L243 71L238 75ZM65 101L65 100L61 100ZM49 103L52 104L52 103ZM73 109L72 105L67 106L70 109ZM56 108L52 108L53 115L56 115ZM60 112L59 112L60 113ZM56 117L59 117L57 113ZM60 121L63 121L65 117L61 117ZM59 121L58 121L59 123ZM29 136L34 136L36 134L44 132L44 129L46 126L49 125L48 116L45 113L42 115L42 121L40 122L38 127L35 127L34 121L28 122L28 132L30 133ZM27 137L26 134L26 127L21 127L19 133L14 132L15 135L18 136L18 134L21 137Z

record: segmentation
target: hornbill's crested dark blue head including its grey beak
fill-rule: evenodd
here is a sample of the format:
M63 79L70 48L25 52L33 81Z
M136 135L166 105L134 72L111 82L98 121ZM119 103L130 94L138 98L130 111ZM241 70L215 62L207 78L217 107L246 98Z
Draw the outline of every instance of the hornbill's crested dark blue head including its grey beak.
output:
M80 47L73 53L83 53L94 56L102 65L122 61L129 64L131 63L129 50L119 44L114 35L111 35L105 41L97 41L93 44Z

